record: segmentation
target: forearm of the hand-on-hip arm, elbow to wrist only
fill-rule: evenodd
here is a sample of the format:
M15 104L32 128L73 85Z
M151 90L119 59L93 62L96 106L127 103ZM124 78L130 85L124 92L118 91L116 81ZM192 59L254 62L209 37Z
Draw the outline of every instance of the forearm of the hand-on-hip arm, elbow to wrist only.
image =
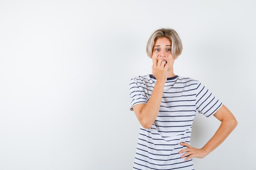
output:
M234 128L236 128L236 125L235 120L223 120L213 137L202 147L205 154L208 155L216 149L229 136Z

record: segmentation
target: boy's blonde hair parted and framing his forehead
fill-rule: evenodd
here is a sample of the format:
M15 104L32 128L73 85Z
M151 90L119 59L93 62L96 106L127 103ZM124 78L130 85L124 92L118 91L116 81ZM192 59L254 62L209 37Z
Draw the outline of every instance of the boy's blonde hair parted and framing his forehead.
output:
M177 32L174 29L169 29L169 28L158 29L150 36L146 46L148 57L152 58L153 47L155 45L155 42L158 38L161 38L161 37L166 37L170 40L172 45L171 52L172 52L173 58L176 60L182 53L182 49L183 49L182 42Z

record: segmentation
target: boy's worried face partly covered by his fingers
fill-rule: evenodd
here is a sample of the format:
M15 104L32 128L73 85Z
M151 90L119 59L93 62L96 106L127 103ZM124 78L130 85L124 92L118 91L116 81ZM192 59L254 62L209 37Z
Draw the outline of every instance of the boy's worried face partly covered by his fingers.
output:
M169 65L168 69L173 67L174 58L171 53L171 42L166 37L158 38L153 47L152 62L153 61L158 62L159 59L166 60L166 62Z

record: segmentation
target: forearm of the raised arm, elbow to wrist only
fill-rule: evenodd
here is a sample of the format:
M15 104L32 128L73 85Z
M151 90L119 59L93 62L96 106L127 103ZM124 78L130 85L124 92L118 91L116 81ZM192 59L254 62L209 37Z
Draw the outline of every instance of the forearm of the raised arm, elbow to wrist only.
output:
M159 108L164 93L164 84L164 82L156 82L148 103L141 110L143 122L149 128L152 126L159 113Z

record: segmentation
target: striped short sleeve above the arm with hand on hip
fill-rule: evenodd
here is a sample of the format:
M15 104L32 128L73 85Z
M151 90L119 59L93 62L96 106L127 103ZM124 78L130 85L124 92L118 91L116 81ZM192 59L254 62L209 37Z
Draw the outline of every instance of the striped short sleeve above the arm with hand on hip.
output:
M206 117L210 117L222 106L222 102L216 98L211 91L203 84L198 82L195 97L196 113L201 113Z

